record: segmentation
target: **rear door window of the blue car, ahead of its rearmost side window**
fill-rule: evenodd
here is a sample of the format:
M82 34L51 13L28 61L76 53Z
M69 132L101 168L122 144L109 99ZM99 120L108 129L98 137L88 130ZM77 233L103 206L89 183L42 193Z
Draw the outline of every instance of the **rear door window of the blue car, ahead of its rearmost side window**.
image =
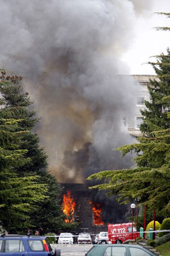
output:
M6 240L5 253L19 253L24 251L23 241L21 240Z

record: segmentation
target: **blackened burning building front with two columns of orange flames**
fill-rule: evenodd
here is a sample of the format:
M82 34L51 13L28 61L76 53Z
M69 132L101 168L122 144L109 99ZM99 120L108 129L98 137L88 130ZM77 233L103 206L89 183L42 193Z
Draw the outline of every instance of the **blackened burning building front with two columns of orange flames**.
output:
M129 209L124 205L118 206L115 198L104 200L103 194L103 199L102 197L97 199L85 183L62 183L61 186L63 187L62 205L66 206L63 207L63 212L68 214L66 222L68 220L78 222L79 226L76 229L78 233L86 231L97 234L107 230L109 222L124 222L129 215Z

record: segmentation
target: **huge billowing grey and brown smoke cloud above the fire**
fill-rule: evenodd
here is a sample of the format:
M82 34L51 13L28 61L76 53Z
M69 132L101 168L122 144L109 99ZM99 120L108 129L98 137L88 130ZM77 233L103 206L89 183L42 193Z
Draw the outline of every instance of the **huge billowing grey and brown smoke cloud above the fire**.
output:
M131 142L122 120L133 111L135 88L120 59L133 40L137 1L0 3L1 67L24 76L49 170L78 183L130 167L131 156L114 149Z

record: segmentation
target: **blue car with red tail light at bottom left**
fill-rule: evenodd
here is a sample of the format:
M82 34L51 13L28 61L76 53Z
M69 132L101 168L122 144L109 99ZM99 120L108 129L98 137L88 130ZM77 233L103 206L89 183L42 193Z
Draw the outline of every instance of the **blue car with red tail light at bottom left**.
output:
M0 256L60 256L60 250L53 253L46 237L5 236L0 237Z

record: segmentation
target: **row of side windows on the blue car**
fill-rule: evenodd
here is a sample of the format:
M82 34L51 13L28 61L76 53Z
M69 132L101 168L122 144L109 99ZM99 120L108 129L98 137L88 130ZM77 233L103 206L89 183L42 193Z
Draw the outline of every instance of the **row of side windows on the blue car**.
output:
M40 240L29 240L28 245L32 251L44 251L44 247ZM0 251L2 240L0 240ZM22 240L5 240L5 253L20 253L25 251Z

